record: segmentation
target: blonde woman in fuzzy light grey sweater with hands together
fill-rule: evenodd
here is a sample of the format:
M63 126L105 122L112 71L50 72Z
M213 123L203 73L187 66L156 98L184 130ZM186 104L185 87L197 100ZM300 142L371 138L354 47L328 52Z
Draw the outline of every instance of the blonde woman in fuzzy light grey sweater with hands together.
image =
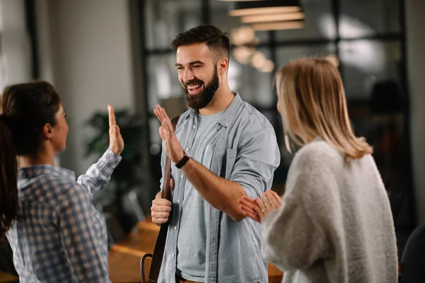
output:
M263 257L283 282L397 282L390 203L372 147L351 129L339 71L326 59L297 59L276 86L285 137L302 147L283 199L269 190L239 200L265 226Z

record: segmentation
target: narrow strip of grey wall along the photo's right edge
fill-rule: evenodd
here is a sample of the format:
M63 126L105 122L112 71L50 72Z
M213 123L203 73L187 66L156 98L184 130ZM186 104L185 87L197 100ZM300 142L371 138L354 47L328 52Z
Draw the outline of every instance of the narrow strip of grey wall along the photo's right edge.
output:
M425 221L425 1L406 1L407 76L417 219Z

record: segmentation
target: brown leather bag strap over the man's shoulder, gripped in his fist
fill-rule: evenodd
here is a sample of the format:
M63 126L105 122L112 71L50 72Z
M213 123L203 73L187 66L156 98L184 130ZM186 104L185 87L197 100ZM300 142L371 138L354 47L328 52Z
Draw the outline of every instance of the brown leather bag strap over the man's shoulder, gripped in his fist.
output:
M176 131L177 122L179 122L180 116L174 117L171 119L171 125L173 125L174 131ZM162 184L162 194L161 197L163 199L169 200L171 202L171 159L166 156L165 160L165 168L164 168L164 183ZM171 214L169 217L169 221L171 219ZM143 255L142 260L140 261L140 270L142 275L143 283L157 283L159 272L161 271L162 258L164 257L164 249L165 249L165 241L166 234L168 232L169 221L161 225L161 229L159 229L159 234L157 238L157 243L155 243L154 254L147 253ZM149 280L145 281L145 259L152 258L151 267L149 270Z

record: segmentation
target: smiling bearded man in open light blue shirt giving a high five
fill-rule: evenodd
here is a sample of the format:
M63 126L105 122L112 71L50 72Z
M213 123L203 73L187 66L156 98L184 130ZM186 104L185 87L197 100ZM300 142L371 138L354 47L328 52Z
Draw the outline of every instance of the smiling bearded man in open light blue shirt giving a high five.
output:
M173 161L171 202L152 202L152 221L169 221L159 282L268 282L260 229L245 219L238 200L270 189L280 153L270 122L232 92L227 81L229 38L200 25L177 35L179 81L191 108L174 134L164 108L166 155ZM261 95L261 93L259 93ZM171 208L172 207L172 208Z

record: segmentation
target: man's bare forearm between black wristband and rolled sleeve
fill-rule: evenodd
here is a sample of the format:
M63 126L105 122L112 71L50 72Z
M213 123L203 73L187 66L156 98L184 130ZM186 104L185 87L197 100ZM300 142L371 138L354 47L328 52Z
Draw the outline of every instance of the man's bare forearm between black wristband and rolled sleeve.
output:
M191 159L183 166L186 178L199 194L216 209L232 217L234 221L244 219L237 200L246 195L238 183L218 177L205 166Z

